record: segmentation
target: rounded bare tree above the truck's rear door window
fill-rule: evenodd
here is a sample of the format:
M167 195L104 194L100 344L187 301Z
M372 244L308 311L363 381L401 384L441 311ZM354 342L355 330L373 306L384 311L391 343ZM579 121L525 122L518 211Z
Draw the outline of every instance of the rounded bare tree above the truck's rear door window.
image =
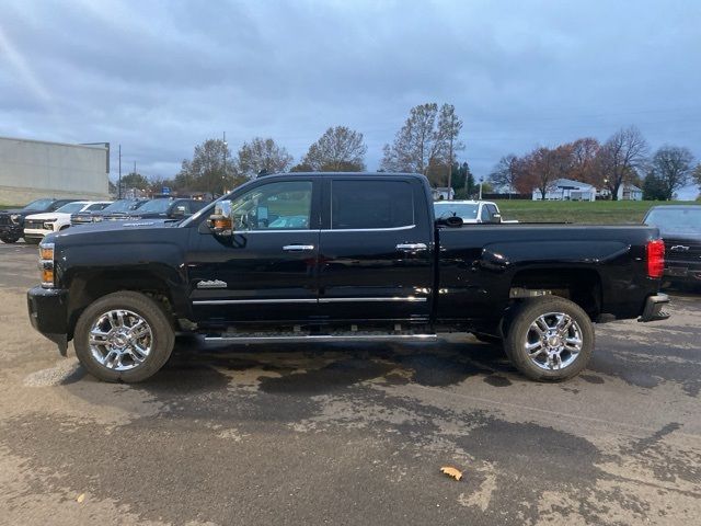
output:
M367 150L359 132L346 126L331 127L309 147L301 164L315 172L358 172L365 170Z

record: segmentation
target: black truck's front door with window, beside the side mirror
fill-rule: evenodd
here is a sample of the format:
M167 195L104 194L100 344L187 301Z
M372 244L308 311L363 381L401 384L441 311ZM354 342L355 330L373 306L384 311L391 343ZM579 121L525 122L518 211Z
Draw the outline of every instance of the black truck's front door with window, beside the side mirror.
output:
M197 321L298 322L315 315L317 186L314 178L260 180L232 199L230 238L197 230L187 262Z

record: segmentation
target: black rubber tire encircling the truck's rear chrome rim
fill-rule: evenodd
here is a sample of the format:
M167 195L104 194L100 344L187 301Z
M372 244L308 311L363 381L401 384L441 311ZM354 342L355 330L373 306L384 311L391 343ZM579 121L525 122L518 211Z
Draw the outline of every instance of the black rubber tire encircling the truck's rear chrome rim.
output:
M573 332L568 334L574 334L574 331L578 331L578 339L582 342L577 354L567 350L563 350L560 353L560 356L564 353L566 358L572 358L571 363L560 369L544 368L549 363L547 346L543 345L541 354L533 357L533 359L538 358L538 362L545 361L541 366L533 363L533 359L529 357L526 351L526 343L532 339L533 334L537 335L537 332L531 330L531 325L541 316L549 313L563 313L570 317L573 321L570 331ZM551 318L555 319L554 317ZM587 366L594 353L594 324L587 313L568 299L548 296L528 299L514 309L504 341L504 351L514 366L528 378L538 381L560 381L576 376Z

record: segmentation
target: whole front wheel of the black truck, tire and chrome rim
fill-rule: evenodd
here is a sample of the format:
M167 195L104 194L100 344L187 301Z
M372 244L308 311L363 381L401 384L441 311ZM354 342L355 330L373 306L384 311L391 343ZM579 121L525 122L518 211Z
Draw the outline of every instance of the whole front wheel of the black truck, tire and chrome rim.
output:
M80 363L105 381L146 380L168 362L174 342L161 305L133 291L92 302L78 319L73 335Z

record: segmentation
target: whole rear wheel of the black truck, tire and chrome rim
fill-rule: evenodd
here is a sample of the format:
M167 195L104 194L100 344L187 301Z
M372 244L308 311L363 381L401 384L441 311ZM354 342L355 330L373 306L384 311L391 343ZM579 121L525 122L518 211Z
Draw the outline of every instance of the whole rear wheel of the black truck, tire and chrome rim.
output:
M594 340L594 324L578 305L549 296L526 300L516 308L504 350L527 377L558 381L586 367Z

